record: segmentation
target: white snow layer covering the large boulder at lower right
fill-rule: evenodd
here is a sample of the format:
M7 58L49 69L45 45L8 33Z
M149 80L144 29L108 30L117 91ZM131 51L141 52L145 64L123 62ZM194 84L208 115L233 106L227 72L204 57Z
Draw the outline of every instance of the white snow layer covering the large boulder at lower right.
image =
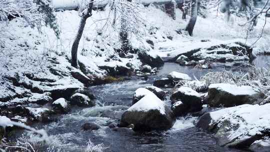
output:
M238 126L236 130L229 131L229 138L244 139L255 134L261 134L260 131L270 128L270 103L264 105L243 104L234 107L224 108L210 112L211 123L218 125L228 120L231 126Z

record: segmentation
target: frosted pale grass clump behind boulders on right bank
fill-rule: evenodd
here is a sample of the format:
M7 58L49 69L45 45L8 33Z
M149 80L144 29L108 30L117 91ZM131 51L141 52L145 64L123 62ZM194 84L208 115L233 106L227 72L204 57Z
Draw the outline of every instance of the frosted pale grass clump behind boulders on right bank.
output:
M223 70L209 72L201 76L200 81L207 85L211 83L229 83L236 85L249 85L257 89L265 96L270 95L270 69L256 68L248 65L247 71Z

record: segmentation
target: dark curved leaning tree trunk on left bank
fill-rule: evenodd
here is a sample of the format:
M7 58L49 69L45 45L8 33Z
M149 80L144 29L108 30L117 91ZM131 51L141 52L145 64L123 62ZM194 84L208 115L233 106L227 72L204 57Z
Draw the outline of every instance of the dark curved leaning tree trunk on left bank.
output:
M78 64L77 64L77 52L78 52L78 44L79 44L79 40L81 38L85 23L86 23L86 19L88 17L90 17L92 15L92 6L93 6L93 0L91 0L91 2L88 5L87 11L82 13L82 16L80 18L80 22L79 22L79 28L75 37L75 40L72 44L72 48L71 48L71 66L77 68Z

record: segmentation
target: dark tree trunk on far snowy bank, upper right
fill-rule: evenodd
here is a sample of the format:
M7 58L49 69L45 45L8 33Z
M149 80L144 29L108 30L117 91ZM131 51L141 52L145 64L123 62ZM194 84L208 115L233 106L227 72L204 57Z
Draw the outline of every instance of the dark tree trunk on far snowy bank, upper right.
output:
M190 20L185 28L190 36L193 35L193 28L195 26L198 14L198 0L191 0L191 16Z

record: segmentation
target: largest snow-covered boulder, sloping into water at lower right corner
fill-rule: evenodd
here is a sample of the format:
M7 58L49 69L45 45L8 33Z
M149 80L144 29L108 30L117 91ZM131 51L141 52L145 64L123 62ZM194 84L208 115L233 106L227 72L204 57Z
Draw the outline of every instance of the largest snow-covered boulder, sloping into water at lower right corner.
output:
M222 146L243 148L270 133L270 103L242 104L203 114L196 126L214 133Z

